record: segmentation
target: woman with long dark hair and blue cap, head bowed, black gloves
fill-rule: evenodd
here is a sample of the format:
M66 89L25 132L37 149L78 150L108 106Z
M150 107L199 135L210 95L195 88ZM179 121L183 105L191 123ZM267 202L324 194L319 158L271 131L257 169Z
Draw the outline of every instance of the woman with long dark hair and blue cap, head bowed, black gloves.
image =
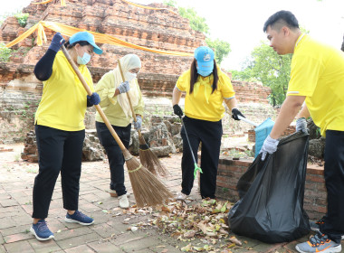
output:
M172 104L174 113L183 116L178 106L182 92L186 92L185 128L181 129L183 138L182 191L177 200L185 200L194 184L194 161L187 144L186 132L191 148L197 160L197 150L202 142L200 192L202 198L215 199L217 165L220 156L222 117L225 116L223 102L232 111L232 117L240 120L243 114L236 108L235 92L229 77L222 72L214 60L214 52L209 47L201 46L195 51L191 68L177 80L173 89Z

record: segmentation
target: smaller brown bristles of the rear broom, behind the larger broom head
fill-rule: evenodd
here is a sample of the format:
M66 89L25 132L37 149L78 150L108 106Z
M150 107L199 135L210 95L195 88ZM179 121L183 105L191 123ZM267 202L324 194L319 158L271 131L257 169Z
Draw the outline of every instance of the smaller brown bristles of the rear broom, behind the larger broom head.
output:
M167 176L167 168L161 164L158 156L150 150L143 136L139 136L139 160L153 174Z

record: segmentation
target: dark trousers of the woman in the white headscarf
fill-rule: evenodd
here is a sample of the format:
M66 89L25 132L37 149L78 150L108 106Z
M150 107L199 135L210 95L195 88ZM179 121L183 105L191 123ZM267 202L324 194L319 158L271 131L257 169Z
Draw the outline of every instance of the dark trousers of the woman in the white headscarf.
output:
M130 143L130 129L131 124L128 126L112 126L123 145L128 149ZM115 190L119 196L127 193L124 185L124 156L119 148L116 140L108 129L108 127L101 122L96 121L96 128L100 144L105 148L106 154L108 155L110 164L110 176L111 183L110 189Z

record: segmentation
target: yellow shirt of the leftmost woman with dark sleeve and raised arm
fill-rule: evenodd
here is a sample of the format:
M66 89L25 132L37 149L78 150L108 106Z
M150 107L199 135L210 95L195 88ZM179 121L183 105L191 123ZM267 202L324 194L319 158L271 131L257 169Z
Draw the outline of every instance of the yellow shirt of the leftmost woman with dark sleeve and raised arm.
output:
M85 65L80 65L79 70L93 91L90 71ZM63 52L57 52L52 76L43 81L43 94L34 123L64 131L80 131L85 128L86 108L86 90Z

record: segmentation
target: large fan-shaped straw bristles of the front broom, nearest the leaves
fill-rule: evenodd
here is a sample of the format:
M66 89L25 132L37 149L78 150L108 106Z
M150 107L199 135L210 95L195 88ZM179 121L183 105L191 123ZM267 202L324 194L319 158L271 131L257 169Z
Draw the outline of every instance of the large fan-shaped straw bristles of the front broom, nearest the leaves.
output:
M164 204L168 199L173 198L173 194L167 190L165 184L161 183L134 156L125 153L123 155L127 157L129 178L138 207Z

